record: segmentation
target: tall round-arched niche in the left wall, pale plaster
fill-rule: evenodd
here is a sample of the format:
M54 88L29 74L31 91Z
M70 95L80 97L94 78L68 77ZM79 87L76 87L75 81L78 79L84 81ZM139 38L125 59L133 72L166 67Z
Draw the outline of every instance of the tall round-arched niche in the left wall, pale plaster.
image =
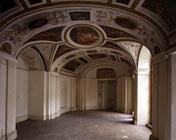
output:
M38 52L30 47L21 51L17 64L16 123L27 119L41 119L45 89L44 71L45 67Z

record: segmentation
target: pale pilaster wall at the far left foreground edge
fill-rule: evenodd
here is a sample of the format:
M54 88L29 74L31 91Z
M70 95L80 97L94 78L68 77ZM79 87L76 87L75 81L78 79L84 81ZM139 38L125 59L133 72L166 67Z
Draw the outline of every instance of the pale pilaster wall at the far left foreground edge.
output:
M0 52L0 138L8 140L17 136L16 64L13 57Z

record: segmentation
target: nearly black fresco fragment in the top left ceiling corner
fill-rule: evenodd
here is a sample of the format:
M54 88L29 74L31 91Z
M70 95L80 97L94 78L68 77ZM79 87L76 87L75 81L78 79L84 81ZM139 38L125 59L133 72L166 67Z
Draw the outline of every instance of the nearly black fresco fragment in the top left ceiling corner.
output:
M0 13L3 13L16 6L17 4L14 0L0 0Z

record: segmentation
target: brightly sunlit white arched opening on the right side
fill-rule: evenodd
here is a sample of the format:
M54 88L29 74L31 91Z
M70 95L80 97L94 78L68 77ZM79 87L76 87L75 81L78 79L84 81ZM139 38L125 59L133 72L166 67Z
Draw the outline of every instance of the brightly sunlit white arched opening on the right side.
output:
M150 51L143 46L138 60L137 74L137 124L151 124L151 90L150 90Z

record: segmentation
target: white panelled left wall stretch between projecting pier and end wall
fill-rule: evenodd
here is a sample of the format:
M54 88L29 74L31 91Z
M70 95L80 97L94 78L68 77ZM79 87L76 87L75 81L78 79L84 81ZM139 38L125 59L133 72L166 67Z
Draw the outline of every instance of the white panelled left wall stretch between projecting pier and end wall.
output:
M76 110L76 80L69 76L50 74L49 106L51 118Z

